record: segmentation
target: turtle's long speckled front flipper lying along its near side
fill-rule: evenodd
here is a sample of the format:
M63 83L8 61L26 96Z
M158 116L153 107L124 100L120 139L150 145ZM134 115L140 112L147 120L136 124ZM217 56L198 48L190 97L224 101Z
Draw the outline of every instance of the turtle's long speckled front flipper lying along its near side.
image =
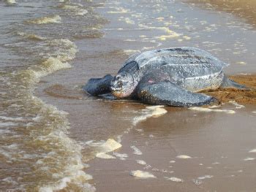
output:
M217 102L217 99L202 93L193 93L170 81L141 83L138 98L146 104L163 104L175 107L192 107Z

